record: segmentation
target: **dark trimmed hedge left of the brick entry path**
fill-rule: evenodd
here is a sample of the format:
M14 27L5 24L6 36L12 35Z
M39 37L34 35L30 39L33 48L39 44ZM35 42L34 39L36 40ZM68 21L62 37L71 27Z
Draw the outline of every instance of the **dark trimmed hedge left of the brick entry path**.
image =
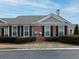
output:
M27 43L36 41L35 37L0 37L0 43Z

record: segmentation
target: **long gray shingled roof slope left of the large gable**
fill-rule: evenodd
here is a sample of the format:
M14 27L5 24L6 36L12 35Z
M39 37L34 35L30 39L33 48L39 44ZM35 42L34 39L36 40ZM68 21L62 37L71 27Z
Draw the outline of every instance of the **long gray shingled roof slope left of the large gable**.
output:
M42 19L45 16L18 16L16 18L1 18L2 20L7 21L8 24L32 24L33 22L36 22L40 19Z

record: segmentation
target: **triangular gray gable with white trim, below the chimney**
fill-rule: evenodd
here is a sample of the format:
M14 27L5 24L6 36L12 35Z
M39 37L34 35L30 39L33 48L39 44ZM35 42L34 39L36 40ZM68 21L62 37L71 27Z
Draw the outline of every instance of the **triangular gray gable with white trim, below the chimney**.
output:
M69 21L65 20L61 16L56 14L49 14L46 17L40 19L38 23L63 23L63 24L71 24Z

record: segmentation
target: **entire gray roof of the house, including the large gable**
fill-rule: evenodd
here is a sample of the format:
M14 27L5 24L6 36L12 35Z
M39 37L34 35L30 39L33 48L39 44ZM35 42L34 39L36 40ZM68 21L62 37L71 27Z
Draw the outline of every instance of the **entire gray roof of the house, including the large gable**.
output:
M69 21L65 20L61 16L56 14L49 15L33 15L33 16L18 16L16 18L0 18L6 21L8 24L18 24L18 25L32 25L36 23L63 23L63 24L71 24Z

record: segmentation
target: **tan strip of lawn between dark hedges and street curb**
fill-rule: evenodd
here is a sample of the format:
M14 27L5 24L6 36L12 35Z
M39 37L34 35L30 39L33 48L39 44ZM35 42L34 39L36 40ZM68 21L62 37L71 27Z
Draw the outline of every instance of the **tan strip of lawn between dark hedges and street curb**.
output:
M31 48L79 48L78 45L70 45L59 42L31 42L26 44L9 44L2 43L0 48L9 48L9 49L31 49Z

